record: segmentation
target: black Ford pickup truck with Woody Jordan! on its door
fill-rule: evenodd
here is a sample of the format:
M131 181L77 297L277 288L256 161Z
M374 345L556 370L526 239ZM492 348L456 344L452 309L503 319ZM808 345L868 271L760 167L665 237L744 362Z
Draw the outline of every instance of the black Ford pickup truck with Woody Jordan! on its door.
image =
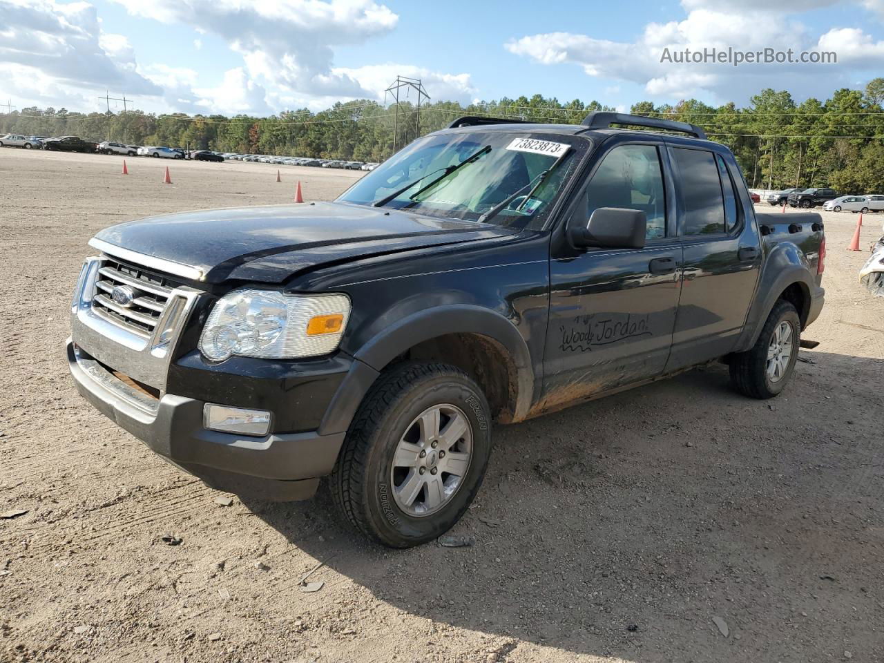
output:
M67 341L83 396L218 489L306 499L330 476L397 547L469 507L493 422L716 360L772 397L823 305L819 215L756 214L697 126L606 112L460 118L334 202L90 244Z

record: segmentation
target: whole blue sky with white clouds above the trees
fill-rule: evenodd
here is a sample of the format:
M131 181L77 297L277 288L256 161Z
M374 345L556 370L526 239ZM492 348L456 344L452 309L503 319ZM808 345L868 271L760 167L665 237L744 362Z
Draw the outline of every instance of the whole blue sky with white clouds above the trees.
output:
M747 103L766 87L825 98L884 72L884 0L795 5L0 0L0 98L99 110L108 89L143 110L270 114L382 100L402 73L433 99L539 93L625 109L691 96ZM713 47L831 50L838 61L660 62L664 50Z

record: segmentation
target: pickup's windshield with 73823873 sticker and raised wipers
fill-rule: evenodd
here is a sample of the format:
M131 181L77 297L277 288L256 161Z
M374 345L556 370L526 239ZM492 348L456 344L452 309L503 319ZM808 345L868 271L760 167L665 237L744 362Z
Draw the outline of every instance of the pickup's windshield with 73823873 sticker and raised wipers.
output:
M568 134L515 131L427 136L370 171L338 200L538 227L589 145Z

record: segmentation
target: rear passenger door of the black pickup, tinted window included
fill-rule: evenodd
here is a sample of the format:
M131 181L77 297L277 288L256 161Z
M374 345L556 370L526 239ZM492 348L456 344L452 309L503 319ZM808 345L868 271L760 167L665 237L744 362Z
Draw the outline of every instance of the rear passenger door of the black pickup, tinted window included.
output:
M754 211L733 157L687 144L668 151L684 254L667 372L733 350L761 267Z

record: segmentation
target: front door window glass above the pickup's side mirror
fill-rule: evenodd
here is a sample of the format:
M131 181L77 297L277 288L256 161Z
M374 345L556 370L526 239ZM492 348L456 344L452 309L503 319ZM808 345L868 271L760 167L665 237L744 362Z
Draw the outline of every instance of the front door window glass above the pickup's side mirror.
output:
M642 210L645 238L666 237L666 194L657 148L621 145L608 152L587 187L589 215L600 207Z

